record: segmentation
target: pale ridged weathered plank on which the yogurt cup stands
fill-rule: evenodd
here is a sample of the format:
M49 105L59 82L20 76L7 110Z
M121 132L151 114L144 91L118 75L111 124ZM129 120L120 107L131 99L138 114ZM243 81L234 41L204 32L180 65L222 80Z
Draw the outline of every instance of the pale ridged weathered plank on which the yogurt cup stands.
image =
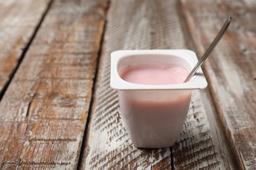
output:
M173 151L136 148L120 118L117 92L109 86L110 53L120 49L186 48L177 10L177 1L111 1L87 141L82 148L83 169L171 169L172 154L175 162L179 161L175 169L234 167L232 155L225 152L229 149L225 139L219 139L221 129L211 124L205 113L205 107L211 106L203 103L199 91L193 94L188 119ZM215 113L214 109L210 111Z

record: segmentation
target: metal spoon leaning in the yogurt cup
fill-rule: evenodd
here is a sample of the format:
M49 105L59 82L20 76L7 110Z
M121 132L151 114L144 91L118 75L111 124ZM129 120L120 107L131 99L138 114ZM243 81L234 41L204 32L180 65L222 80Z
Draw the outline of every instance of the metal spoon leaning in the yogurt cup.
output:
M202 58L198 61L198 63L196 64L196 66L194 67L194 69L192 69L192 71L189 73L188 77L186 78L186 80L184 80L184 82L188 82L188 80L190 80L190 78L192 78L192 76L194 76L194 74L196 73L196 71L198 71L198 69L201 67L201 65L203 64L203 61L205 61L205 59L209 56L209 54L211 54L211 52L213 51L213 49L215 48L215 46L218 44L218 42L221 40L221 38L223 37L224 33L226 32L226 29L228 29L228 26L231 22L232 18L228 17L228 19L226 20L226 22L224 23L223 27L221 28L221 31L219 31L218 35L215 37L215 39L213 40L213 42L211 42L210 46L208 47L208 49L206 50L206 52L203 54Z

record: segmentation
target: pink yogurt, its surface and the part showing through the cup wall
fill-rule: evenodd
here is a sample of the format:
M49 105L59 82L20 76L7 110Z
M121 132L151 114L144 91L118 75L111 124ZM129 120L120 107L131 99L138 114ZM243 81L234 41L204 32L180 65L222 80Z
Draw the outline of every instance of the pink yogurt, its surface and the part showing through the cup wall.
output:
M179 84L186 76L188 71L184 67L152 65L130 67L121 74L123 80L136 84ZM161 148L173 145L184 124L190 97L191 93L186 91L120 92L123 120L135 146Z

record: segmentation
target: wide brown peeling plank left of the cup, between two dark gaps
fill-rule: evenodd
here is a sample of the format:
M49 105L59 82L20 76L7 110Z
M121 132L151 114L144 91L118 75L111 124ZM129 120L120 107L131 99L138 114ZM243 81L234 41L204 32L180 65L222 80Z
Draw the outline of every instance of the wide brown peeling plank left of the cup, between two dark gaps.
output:
M0 103L2 169L75 169L106 1L54 1Z

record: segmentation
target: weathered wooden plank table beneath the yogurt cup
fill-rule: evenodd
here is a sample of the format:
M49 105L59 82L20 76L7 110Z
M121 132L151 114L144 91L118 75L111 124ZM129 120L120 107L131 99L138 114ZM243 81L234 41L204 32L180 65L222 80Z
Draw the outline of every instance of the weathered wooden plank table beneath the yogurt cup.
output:
M133 146L110 53L194 50L203 65L174 146ZM256 1L0 0L0 169L256 169Z

